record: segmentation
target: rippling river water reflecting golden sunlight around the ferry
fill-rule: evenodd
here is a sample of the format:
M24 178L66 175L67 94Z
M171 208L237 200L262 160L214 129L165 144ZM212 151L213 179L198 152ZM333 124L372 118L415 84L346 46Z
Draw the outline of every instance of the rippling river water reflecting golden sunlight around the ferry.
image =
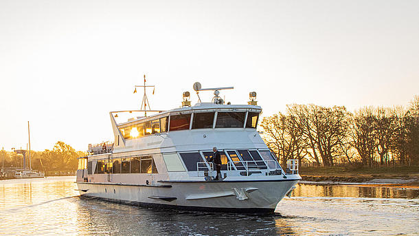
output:
M80 199L75 177L0 181L0 235L418 235L419 189L297 184L275 215Z

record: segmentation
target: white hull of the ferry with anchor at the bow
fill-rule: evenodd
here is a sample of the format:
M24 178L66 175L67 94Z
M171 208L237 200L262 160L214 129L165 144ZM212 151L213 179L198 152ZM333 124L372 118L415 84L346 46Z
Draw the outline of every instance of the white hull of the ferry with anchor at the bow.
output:
M197 211L273 213L297 180L161 182L159 185L78 182L80 195Z

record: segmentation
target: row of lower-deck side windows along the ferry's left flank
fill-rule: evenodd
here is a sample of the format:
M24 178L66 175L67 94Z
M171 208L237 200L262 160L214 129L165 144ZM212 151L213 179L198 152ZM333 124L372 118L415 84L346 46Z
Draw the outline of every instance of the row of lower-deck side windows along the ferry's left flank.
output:
M91 174L92 164L87 165L87 172ZM158 173L151 155L134 158L115 158L98 160L94 173Z

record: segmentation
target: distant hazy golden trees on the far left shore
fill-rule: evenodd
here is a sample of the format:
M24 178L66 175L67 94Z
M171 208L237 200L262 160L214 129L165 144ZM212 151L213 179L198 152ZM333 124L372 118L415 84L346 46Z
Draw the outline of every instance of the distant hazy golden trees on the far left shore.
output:
M0 151L0 153L0 158L4 156L4 167L23 167L23 155L14 151ZM87 153L76 151L69 144L58 141L52 150L31 151L32 169L38 171L76 171L77 158L84 155L87 155ZM26 167L29 168L29 166L29 153L27 153Z

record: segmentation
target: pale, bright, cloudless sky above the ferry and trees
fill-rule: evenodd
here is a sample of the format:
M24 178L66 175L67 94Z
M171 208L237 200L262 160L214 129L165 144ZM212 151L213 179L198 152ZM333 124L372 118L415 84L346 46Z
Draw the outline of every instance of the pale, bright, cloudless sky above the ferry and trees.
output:
M0 148L85 151L109 111L181 105L192 85L263 116L287 104L408 105L419 94L419 1L0 0ZM203 101L211 92L201 92Z

